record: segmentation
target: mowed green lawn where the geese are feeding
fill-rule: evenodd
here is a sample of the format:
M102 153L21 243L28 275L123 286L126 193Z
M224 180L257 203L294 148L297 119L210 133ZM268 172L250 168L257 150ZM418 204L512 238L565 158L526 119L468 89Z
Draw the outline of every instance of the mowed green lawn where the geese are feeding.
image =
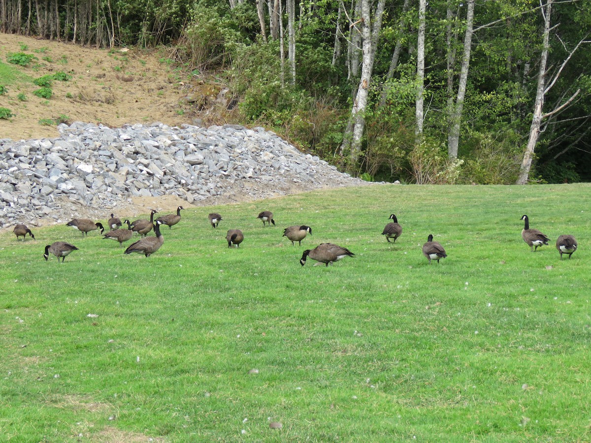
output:
M150 258L65 223L5 232L0 439L589 441L590 195L374 185L191 208ZM530 252L523 214L549 246ZM301 246L294 224L313 230ZM56 240L80 250L46 262ZM323 242L356 256L300 266Z

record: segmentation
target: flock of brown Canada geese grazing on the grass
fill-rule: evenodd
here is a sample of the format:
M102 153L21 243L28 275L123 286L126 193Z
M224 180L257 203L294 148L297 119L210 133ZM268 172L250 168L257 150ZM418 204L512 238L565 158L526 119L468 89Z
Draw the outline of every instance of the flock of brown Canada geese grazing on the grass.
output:
M143 254L146 257L149 257L154 252L156 252L164 243L164 238L162 233L160 232L160 226L165 224L170 229L172 226L180 222L181 220L181 210L184 208L182 206L177 207L176 214L167 214L165 216L158 217L154 220L154 214L157 214L158 211L152 210L150 212L150 220L139 219L135 220L134 222L129 222L129 220L125 220L123 223L121 219L115 217L115 214L111 214L111 218L107 222L107 226L111 229L109 232L105 232L105 228L103 227L102 223L95 223L93 220L90 219L73 219L72 221L66 223L66 226L71 226L74 229L79 230L82 232L82 236L85 237L88 235L89 232L93 230L100 229L100 234L102 234L103 239L111 239L119 242L119 246L123 246L124 242L131 240L134 234L139 234L141 237L136 242L132 243L125 249L125 254L131 254L132 252ZM257 219L262 221L263 226L267 223L267 226L275 226L275 220L273 219L273 213L271 211L262 211L256 217ZM212 225L213 228L217 228L220 221L222 221L222 216L218 213L211 213L208 216L209 223ZM392 220L389 222L382 231L382 235L386 237L388 243L396 243L396 239L401 236L402 234L402 226L398 224L398 219L395 214L391 214L388 220ZM524 220L524 229L521 231L521 237L527 245L530 246L532 252L537 251L538 247L543 245L548 245L548 239L545 234L541 233L537 229L530 229L530 220L527 215L521 217L521 220ZM126 224L126 227L123 227L123 224ZM148 237L147 234L154 230L155 236ZM14 234L18 237L22 236L23 241L25 240L27 234L33 239L35 236L28 229L27 226L24 224L17 224L13 230ZM305 239L307 234L312 233L312 228L306 225L295 225L286 227L283 231L283 236L287 237L287 239L291 240L291 245L294 246L295 242L298 242L298 245L301 246L301 240ZM392 242L390 241L392 239ZM236 245L236 248L240 246L240 243L244 240L244 234L240 229L230 229L226 234L226 241L228 242L228 247L232 247ZM561 235L556 240L556 249L560 253L560 259L562 260L563 254L567 254L569 259L573 255L573 253L577 250L577 240L574 236L571 235ZM535 248L535 249L534 249ZM69 255L73 250L78 250L78 248L71 243L67 242L54 242L51 245L47 245L45 247L45 252L43 257L47 260L49 258L50 253L57 257L57 261L64 262L66 260L66 256ZM442 258L447 257L447 253L443 246L439 242L433 241L433 234L429 234L427 237L427 242L423 245L423 255L427 258L428 263L431 264L431 260L436 260L439 263L439 260ZM324 263L324 265L332 265L334 262L341 260L345 257L352 257L355 256L349 249L346 247L342 247L339 245L335 245L334 243L322 243L316 246L314 249L306 249L300 259L300 264L304 266L306 264L307 258L311 258L316 260L316 265L320 265Z

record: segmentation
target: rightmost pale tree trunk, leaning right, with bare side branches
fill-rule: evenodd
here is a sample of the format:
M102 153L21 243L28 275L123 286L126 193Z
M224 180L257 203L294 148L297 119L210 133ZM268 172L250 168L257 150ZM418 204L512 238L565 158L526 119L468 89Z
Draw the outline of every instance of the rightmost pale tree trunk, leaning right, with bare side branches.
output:
M540 137L540 127L542 123L542 110L544 108L544 89L546 64L548 62L548 50L550 48L550 14L552 10L552 1L547 0L544 12L544 35L542 44L542 53L540 56L540 70L538 71L538 86L535 91L534 115L531 119L530 138L527 141L519 177L515 184L526 184L530 177L531 162L534 159L535 144Z

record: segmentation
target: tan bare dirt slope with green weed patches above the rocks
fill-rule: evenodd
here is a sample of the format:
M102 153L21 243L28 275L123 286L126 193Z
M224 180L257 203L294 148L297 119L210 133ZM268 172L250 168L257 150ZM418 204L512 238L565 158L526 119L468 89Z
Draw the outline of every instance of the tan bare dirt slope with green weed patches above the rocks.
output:
M18 87L8 86L8 93L0 95L0 107L15 114L10 120L0 120L0 138L57 136L56 125L43 125L40 120L60 116L111 127L151 122L180 125L192 120L180 104L192 86L171 69L163 50L109 51L0 34L2 62L6 62L8 53L21 51L34 55L37 60L19 68L30 77L28 82L20 82ZM34 96L33 91L39 87L32 80L56 71L69 73L72 79L54 81L49 100ZM0 85L3 83L0 79ZM24 93L27 99L19 100L19 93Z

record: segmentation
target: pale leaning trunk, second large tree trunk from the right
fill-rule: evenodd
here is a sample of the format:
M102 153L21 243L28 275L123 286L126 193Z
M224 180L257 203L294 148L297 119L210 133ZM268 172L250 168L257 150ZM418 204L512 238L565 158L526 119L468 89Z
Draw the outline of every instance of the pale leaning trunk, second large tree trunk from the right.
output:
M462 109L464 106L464 97L466 96L468 69L470 67L470 51L472 50L474 3L475 0L468 0L466 35L464 37L464 54L462 56L462 67L460 68L459 86L457 87L456 103L452 105L452 114L449 116L450 128L447 135L447 157L449 158L457 158L457 146L460 140L460 123L462 122Z

